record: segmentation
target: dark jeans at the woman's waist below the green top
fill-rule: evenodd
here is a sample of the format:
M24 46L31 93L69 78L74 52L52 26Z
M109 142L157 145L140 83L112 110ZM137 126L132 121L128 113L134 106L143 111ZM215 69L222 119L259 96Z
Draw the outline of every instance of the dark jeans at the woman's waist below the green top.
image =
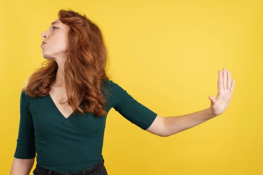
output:
M106 168L104 166L104 159L102 159L95 166L78 171L78 172L57 172L50 169L45 169L37 164L36 168L33 171L33 175L107 175Z

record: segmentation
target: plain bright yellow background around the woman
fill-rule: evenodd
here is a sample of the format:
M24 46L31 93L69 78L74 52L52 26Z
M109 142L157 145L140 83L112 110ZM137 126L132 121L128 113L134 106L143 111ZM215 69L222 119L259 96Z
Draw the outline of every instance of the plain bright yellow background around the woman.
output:
M261 3L261 2L260 2ZM9 174L20 92L44 61L41 33L61 8L101 28L109 75L161 116L209 106L217 71L236 80L222 115L169 137L112 109L103 155L109 174L262 173L262 4L259 0L1 0L1 174Z

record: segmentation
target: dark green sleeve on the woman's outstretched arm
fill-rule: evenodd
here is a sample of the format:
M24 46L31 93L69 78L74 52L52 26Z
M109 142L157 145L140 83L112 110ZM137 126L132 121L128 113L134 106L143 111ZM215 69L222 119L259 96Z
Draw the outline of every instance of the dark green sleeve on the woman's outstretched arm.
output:
M138 102L118 84L111 80L107 81L109 99L114 109L132 123L144 130L147 129L156 118L157 113Z

